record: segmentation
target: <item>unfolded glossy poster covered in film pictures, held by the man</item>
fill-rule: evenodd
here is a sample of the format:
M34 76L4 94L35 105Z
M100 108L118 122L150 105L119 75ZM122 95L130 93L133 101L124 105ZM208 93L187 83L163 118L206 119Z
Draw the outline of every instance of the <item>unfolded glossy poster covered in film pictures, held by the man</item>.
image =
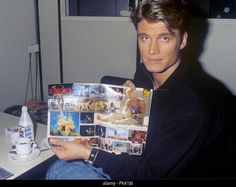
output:
M48 138L116 154L145 149L152 90L96 83L48 85Z

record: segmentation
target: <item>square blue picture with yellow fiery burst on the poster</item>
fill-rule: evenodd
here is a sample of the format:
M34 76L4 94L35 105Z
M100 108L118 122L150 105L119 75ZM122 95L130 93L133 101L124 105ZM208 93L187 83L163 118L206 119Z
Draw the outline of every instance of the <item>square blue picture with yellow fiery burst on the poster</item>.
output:
M50 136L78 136L78 112L50 112Z

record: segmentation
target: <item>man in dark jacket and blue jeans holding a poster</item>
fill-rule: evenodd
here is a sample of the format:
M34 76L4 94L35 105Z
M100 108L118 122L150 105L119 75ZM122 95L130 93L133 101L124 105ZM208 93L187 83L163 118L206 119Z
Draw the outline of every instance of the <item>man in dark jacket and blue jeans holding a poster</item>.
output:
M142 64L133 82L153 88L145 151L115 155L102 150L52 140L62 160L48 179L154 179L223 177L223 108L211 82L181 61L188 40L186 4L176 0L140 3L131 15L138 32ZM81 161L66 162L81 159ZM89 160L89 162L84 162ZM92 164L91 164L92 163ZM223 164L224 163L224 164Z

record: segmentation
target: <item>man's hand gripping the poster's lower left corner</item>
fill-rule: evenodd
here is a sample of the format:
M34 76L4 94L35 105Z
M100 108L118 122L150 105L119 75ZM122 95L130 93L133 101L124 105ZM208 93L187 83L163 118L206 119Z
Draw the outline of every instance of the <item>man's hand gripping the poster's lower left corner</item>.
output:
M87 160L91 152L91 148L77 142L64 142L51 138L49 144L52 151L61 160Z

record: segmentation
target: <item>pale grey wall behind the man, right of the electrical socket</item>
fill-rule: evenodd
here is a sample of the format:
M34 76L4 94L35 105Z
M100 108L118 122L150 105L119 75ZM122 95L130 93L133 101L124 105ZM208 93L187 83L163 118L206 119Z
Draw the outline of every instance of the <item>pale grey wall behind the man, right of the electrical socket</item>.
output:
M41 1L45 94L48 83L60 81L56 1ZM200 61L208 73L236 94L236 20L208 21L209 33ZM136 33L128 20L63 17L62 37L65 82L98 82L102 75L132 77Z

